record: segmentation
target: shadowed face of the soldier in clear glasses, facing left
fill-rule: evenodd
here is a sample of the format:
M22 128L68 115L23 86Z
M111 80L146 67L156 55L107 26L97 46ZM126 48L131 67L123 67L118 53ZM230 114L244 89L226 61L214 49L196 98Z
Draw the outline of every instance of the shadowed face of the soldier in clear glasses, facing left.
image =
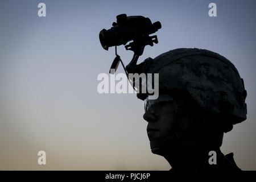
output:
M174 134L175 107L173 101L158 102L148 107L143 115L148 122L147 135L154 154L158 153L163 141Z

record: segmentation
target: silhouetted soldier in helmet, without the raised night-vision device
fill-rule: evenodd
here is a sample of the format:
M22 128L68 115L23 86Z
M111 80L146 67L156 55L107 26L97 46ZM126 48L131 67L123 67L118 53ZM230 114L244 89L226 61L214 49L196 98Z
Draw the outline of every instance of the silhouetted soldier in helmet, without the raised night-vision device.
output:
M222 154L224 133L246 119L246 90L234 65L217 53L175 49L143 63L143 73L159 73L159 97L144 100L151 151L171 171L240 171L233 153ZM209 152L216 152L216 164Z

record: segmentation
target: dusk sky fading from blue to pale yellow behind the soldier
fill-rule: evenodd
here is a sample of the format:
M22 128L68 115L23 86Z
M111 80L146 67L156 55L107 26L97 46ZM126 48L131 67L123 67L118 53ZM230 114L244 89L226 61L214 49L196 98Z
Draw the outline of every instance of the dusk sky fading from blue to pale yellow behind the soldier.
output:
M37 14L46 3L47 16ZM210 2L217 17L208 16ZM224 154L256 169L256 2L0 1L0 169L168 170L151 154L143 102L135 94L98 94L114 48L98 40L115 16L143 15L162 28L139 61L175 48L204 48L232 61L245 80L247 120L225 134ZM125 64L132 52L118 47ZM119 67L118 72L123 72ZM47 165L37 164L37 152Z

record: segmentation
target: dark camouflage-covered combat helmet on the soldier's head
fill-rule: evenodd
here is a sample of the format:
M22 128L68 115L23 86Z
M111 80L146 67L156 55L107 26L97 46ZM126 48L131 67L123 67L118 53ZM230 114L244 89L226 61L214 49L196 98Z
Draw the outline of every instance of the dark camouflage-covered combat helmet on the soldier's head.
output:
M159 93L181 90L188 93L200 109L224 113L231 124L246 119L246 90L236 67L218 53L198 48L179 48L155 59L144 60L140 73L159 73ZM137 93L145 100L147 94Z

